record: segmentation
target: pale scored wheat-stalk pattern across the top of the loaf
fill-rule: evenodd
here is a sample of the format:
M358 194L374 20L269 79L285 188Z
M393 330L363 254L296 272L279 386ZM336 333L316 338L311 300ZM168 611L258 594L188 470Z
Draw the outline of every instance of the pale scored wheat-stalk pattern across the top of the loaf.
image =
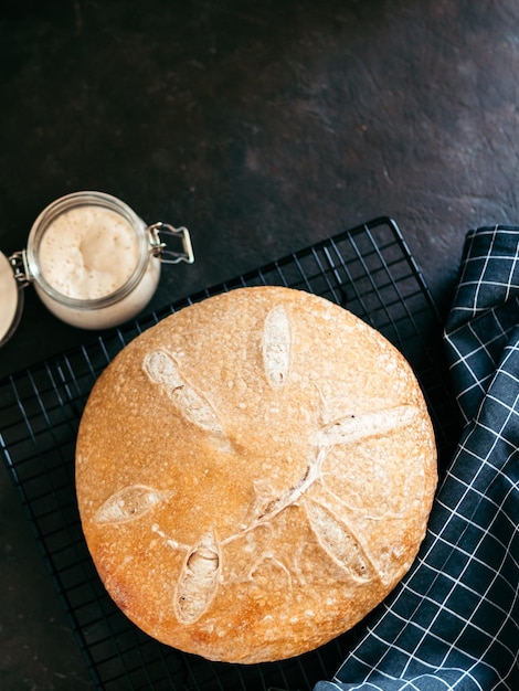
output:
M264 321L261 359L265 379L275 391L282 390L290 381L293 337L286 309L283 306L272 308ZM211 439L224 442L227 450L232 448L208 395L198 391L188 381L179 362L167 349L148 352L144 358L142 369L149 381L159 386L172 402L178 415L206 433ZM375 578L384 581L385 574L371 562L362 539L356 536L347 521L339 519L330 508L341 500L324 482L322 468L331 447L347 447L360 439L406 427L413 423L420 410L406 404L358 415L354 412L347 412L335 419L328 419L325 415L326 401L321 400L321 404L324 410L316 411L315 425L306 432L308 446L313 451L299 479L275 497L258 496L254 507L255 513L247 525L241 527L233 534L219 538L213 532L202 534L195 545L180 544L174 541L174 536L163 534L158 527L153 528L166 543L184 552L183 566L172 603L179 621L193 624L210 607L222 577L225 546L261 527L274 525L285 509L295 506L306 512L309 529L324 554L345 574L359 583ZM326 506L326 499L316 500L311 490L317 485L321 497L328 497L330 506ZM169 500L174 500L174 493L171 491L161 491L144 485L126 487L113 495L98 509L95 521L106 524L138 520L158 503ZM272 560L273 556L272 554L256 556L255 564L265 559ZM287 568L282 561L279 565L287 574L297 572L297 568ZM255 568L256 566L251 567L250 573L253 574Z

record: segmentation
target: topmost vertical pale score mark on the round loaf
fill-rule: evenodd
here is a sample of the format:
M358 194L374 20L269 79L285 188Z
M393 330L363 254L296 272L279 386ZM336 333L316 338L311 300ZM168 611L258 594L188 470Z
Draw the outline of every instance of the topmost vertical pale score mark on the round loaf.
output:
M283 305L273 307L263 327L263 366L273 389L283 387L290 368L290 321Z

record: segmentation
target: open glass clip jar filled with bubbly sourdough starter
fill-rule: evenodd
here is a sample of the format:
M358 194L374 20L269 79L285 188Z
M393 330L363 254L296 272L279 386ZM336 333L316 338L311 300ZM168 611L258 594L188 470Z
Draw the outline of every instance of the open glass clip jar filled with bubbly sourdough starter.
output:
M161 235L179 238L182 252L167 249ZM146 307L161 264L192 264L194 256L186 227L147 225L119 199L86 191L46 206L27 249L9 261L19 285L34 285L56 317L82 329L106 329Z

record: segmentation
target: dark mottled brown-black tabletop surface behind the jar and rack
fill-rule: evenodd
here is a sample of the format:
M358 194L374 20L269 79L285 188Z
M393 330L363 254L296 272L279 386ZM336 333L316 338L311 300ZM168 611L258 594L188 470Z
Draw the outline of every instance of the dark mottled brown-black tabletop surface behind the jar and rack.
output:
M386 214L445 312L518 220L518 35L515 0L3 0L0 249L110 192L191 230L157 308ZM25 302L0 378L86 338ZM3 467L0 540L0 688L89 688Z

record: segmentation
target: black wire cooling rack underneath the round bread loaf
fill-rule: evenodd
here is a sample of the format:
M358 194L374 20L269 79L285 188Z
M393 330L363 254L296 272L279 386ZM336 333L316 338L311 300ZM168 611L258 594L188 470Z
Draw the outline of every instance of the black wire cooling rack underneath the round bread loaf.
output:
M348 308L407 358L426 395L439 464L456 413L443 365L442 323L402 234L377 219L153 312L0 383L0 449L35 531L94 685L104 691L306 691L336 671L356 629L305 656L255 666L205 661L137 629L106 594L81 530L76 432L89 391L114 355L167 315L240 286L284 285ZM347 344L345 343L345 348Z

